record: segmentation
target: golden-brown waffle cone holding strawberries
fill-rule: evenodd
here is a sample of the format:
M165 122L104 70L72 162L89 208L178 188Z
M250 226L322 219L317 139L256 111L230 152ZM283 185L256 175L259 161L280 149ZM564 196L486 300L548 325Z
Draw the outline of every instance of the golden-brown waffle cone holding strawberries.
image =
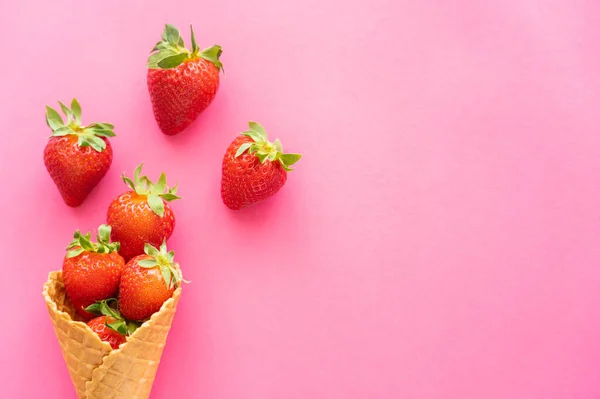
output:
M65 293L62 272L48 275L43 295L80 399L145 399L150 396L181 288L177 288L161 309L115 350L101 341L76 315Z

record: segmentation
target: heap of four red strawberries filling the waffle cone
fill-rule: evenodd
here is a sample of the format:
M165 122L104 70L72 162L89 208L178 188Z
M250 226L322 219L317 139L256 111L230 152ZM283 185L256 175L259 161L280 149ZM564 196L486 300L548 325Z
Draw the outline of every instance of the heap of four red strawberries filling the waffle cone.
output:
M154 184L141 171L142 165L133 180L123 176L131 190L110 204L96 242L76 231L63 262L75 311L115 349L184 281L166 245L175 228L167 201L179 199L176 187L167 186L164 173Z

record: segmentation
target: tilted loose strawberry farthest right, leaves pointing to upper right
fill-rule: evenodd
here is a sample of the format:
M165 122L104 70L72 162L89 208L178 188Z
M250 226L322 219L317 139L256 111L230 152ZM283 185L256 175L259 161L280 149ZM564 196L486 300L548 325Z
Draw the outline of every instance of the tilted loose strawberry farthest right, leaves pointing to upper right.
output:
M241 209L277 193L300 154L284 154L279 139L271 143L265 129L250 122L250 130L238 136L223 158L221 198L230 209Z

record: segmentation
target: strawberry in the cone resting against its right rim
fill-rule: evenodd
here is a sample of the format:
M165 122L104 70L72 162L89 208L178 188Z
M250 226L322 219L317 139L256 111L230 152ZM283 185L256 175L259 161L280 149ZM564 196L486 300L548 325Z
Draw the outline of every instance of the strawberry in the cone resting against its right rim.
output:
M183 280L175 253L167 252L165 242L160 251L150 244L144 251L127 263L119 285L119 308L129 320L143 321L159 311Z

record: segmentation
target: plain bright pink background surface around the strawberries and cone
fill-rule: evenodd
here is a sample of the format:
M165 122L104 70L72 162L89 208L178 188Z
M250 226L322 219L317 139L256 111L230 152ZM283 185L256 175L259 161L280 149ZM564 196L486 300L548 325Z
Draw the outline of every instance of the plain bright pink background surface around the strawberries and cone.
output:
M0 12L2 397L74 398L41 296L141 161L178 181L185 287L153 398L600 397L600 6L590 1L12 1ZM219 43L188 131L153 120L163 24ZM116 125L78 209L44 105ZM304 154L228 211L249 119Z

